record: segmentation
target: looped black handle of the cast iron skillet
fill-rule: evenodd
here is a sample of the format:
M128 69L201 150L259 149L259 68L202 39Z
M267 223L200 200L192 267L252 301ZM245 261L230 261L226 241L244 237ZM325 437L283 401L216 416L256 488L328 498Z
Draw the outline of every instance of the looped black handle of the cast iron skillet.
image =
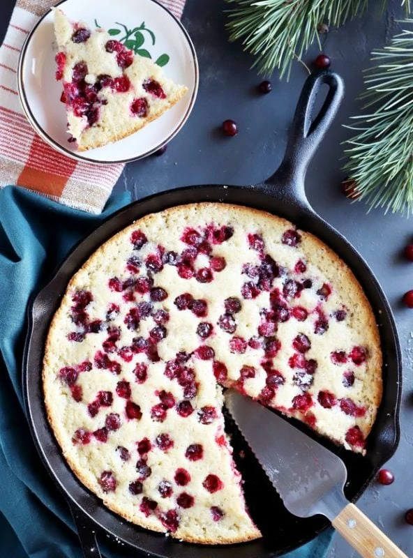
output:
M329 92L314 118L315 99L323 84L329 86ZM304 192L308 163L336 116L343 96L344 83L336 73L323 70L308 76L296 106L283 161L275 174L264 183L267 188L276 186L276 191L272 192L274 195L278 194L283 199L287 198L294 204L298 202L310 209Z

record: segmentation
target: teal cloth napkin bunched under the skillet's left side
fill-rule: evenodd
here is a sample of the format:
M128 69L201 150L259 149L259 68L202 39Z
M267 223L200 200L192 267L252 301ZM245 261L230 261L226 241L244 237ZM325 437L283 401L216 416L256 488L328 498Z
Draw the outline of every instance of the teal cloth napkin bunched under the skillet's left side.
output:
M91 215L35 193L0 190L0 557L81 558L68 506L40 462L25 416L21 363L29 296L45 285L72 246L121 206L110 197ZM287 555L322 558L332 529ZM130 552L102 546L108 558ZM136 552L133 556L139 558ZM143 556L143 555L142 555ZM145 556L147 554L145 553ZM286 558L287 558L286 557Z

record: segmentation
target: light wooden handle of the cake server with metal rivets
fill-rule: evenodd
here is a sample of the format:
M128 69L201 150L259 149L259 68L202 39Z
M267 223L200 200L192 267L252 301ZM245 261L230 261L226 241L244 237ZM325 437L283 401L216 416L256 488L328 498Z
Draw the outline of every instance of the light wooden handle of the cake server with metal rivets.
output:
M354 504L345 506L333 527L363 558L408 558Z

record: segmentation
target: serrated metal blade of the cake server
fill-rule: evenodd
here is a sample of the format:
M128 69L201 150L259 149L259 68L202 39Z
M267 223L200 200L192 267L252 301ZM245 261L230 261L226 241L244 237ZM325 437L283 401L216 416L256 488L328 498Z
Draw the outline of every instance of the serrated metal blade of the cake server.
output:
M340 458L237 391L228 390L225 402L288 511L333 520L347 506L347 469Z

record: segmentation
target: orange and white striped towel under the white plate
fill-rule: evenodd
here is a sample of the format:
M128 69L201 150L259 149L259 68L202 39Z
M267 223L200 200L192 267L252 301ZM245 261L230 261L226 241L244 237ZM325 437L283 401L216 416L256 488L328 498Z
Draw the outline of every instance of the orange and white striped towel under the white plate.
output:
M160 0L181 17L185 0ZM17 62L30 29L55 0L17 0L0 47L0 188L24 186L61 204L100 213L123 165L75 161L45 144L31 128L17 96Z

